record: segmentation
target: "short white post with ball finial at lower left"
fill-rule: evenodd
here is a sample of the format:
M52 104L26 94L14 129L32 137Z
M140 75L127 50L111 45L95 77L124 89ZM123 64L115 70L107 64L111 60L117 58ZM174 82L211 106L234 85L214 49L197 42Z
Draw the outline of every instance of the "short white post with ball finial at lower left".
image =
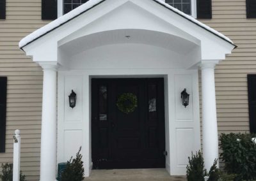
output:
M20 181L20 131L15 130L13 136L13 181Z

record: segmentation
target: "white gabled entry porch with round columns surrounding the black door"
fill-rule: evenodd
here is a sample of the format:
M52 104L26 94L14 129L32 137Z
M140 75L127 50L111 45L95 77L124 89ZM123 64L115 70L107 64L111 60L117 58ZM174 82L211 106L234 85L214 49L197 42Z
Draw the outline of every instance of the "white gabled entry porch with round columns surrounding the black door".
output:
M20 48L44 69L40 181L55 180L56 163L81 145L90 176L93 78L163 78L165 168L170 175L186 174L188 156L201 147L198 68L209 170L218 158L214 66L234 47L223 34L156 0L91 0L24 38ZM184 89L190 94L186 108ZM68 103L72 90L74 109Z

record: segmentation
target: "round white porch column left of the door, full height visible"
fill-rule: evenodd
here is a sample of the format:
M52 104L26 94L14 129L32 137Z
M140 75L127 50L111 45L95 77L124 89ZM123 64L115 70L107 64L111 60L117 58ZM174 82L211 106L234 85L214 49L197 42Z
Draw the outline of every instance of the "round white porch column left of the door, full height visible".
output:
M56 180L57 120L56 65L40 64L44 69L40 181Z

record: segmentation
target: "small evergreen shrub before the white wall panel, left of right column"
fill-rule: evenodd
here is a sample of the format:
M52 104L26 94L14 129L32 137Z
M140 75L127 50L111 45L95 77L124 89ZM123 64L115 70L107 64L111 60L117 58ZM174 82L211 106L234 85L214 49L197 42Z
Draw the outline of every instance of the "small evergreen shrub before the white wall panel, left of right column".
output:
M204 169L204 158L200 151L196 152L191 158L188 157L188 166L187 166L187 179L188 181L204 181L206 176L206 170Z

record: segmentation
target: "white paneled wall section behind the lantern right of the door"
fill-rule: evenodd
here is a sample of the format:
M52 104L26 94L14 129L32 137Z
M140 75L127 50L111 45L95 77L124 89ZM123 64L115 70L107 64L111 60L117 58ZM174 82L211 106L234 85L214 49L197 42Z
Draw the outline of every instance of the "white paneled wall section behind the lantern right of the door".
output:
M200 117L198 96L198 73L180 72L173 75L170 89L173 89L174 98L169 104L174 103L174 119L170 120L171 139L171 174L185 175L188 157L191 152L200 150ZM187 89L189 105L185 108L180 98L181 92ZM169 94L172 94L169 91ZM170 115L169 115L170 116Z

